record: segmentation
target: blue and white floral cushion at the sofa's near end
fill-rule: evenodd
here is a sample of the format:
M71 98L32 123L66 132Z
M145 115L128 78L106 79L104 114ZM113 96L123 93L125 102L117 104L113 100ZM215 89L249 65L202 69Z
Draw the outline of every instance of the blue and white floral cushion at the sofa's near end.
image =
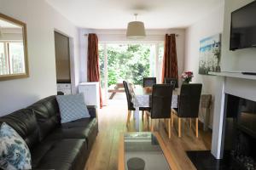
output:
M5 122L0 127L0 167L31 169L31 154L25 141Z

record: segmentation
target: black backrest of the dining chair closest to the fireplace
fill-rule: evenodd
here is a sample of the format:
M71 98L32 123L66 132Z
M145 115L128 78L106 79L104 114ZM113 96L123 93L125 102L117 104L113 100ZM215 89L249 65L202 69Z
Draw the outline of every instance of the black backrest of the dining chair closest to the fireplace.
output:
M202 84L183 84L178 103L178 116L198 117Z

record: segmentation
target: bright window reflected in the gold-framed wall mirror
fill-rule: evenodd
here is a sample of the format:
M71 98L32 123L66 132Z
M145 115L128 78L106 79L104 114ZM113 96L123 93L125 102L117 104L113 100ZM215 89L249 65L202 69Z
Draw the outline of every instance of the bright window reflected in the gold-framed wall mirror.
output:
M0 75L25 72L23 42L0 42Z

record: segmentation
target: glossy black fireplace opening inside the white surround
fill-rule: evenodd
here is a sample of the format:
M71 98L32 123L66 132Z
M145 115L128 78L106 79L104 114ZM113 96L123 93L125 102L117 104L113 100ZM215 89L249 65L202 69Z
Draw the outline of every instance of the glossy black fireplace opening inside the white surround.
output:
M224 159L230 169L256 170L256 102L225 94Z

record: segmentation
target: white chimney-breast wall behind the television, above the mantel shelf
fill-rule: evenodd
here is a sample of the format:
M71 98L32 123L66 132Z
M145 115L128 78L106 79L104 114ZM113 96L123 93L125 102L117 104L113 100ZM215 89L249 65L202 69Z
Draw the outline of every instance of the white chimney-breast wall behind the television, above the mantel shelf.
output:
M253 0L225 0L221 59L223 71L256 71L256 48L245 48L230 51L231 12L251 2L253 2Z

